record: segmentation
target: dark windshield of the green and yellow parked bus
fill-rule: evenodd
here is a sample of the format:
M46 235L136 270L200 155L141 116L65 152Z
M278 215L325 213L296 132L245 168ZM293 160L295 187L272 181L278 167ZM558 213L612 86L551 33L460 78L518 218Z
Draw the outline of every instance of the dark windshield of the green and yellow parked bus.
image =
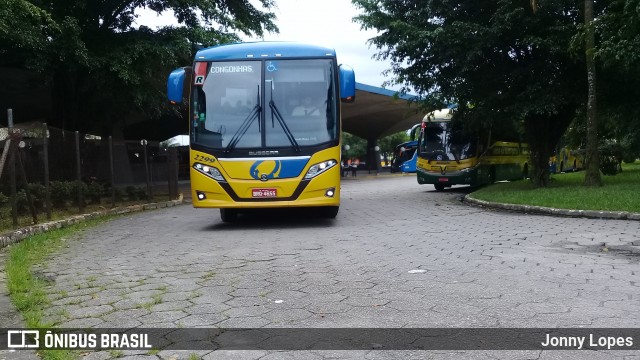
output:
M420 134L420 155L429 161L460 161L476 156L476 141L450 122L428 122Z

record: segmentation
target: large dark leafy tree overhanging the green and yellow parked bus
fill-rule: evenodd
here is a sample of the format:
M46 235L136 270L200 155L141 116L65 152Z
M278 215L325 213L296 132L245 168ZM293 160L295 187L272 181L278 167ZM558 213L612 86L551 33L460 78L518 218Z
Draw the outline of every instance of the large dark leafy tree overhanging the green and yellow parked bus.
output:
M548 1L535 14L524 1L353 3L363 11L356 21L379 31L370 42L391 60L395 83L458 103L454 119L471 131L519 124L532 179L547 185L548 159L586 99L584 58L569 50L580 24L575 1Z

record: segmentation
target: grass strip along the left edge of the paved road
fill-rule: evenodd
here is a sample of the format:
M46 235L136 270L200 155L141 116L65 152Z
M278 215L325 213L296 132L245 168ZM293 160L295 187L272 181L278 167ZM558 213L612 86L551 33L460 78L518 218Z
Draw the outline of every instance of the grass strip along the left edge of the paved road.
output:
M48 281L34 275L33 267L42 264L59 251L66 239L89 227L107 221L108 218L89 220L80 224L52 230L28 237L9 249L5 264L7 287L11 301L23 316L27 328L47 328L54 324L43 320L43 310L51 304L47 296ZM42 350L38 354L45 360L75 359L76 352L69 350Z

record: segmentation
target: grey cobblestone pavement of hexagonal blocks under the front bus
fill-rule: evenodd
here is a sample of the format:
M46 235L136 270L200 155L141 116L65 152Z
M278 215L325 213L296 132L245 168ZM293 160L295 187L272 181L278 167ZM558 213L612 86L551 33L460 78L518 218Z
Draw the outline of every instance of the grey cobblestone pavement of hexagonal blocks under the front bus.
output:
M640 222L497 212L348 179L336 220L117 218L39 269L59 327L638 327ZM640 341L640 339L637 339ZM640 359L630 351L125 351L124 359ZM109 352L87 358L105 359Z

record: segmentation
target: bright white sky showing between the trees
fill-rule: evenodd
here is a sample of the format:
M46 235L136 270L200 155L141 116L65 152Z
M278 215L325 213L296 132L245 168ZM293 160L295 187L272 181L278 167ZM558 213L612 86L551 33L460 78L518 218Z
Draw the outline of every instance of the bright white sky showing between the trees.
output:
M279 34L265 34L264 39L243 38L244 41L298 41L326 46L336 50L339 64L349 65L356 74L356 82L382 87L381 73L390 68L389 62L372 59L378 50L367 40L376 36L375 30L361 30L352 21L359 14L350 0L276 0L273 10ZM140 11L137 23L155 28L175 24L172 14L158 17L151 11ZM399 86L388 87L398 90Z

